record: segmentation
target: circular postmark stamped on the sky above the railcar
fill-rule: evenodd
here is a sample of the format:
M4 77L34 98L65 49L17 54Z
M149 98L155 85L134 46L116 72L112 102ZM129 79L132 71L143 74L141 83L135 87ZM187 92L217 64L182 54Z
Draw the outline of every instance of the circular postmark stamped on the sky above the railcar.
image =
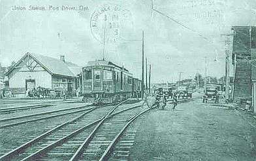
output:
M120 5L103 5L91 15L90 28L93 37L103 43L120 40L123 23L131 20L131 12Z

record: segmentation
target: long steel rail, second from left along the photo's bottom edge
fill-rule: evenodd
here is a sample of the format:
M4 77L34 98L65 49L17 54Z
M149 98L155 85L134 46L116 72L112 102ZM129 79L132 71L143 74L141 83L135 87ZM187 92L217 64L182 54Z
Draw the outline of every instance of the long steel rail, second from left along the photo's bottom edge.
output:
M123 113L124 111L128 111L134 108L138 108L140 107L140 105L138 106L134 106L131 108L126 108L124 110L118 111L117 113L108 115L108 117L106 117L106 119L110 119L110 117L113 117L114 115L118 115L119 113ZM94 124L97 124L99 122L101 122L104 119L105 116L103 116L101 119L98 119L97 121L93 121L92 123L86 124L85 126L82 126L81 128L79 128L78 130L75 130L74 132L71 132L70 134L68 134L67 136L64 136L63 138L58 139L57 141L55 141L54 143L51 143L50 145L47 145L46 147L40 149L39 151L36 151L35 153L27 156L26 158L24 158L22 161L28 161L28 160L33 160L34 158L36 158L37 156L39 156L42 153L46 153L47 151L49 151L50 149L53 149L54 147L56 147L57 145L67 141L67 139L72 138L73 136L76 136L77 134L79 134L80 132L82 132L83 130L86 130L86 128L89 128L90 126L93 126Z

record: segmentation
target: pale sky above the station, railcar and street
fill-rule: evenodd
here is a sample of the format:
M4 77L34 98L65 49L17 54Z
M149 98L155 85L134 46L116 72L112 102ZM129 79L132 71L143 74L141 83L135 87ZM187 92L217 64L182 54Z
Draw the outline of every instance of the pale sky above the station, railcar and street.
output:
M45 10L29 10L29 6ZM62 6L87 9L61 10ZM110 10L101 12L103 7ZM0 63L8 66L31 52L65 55L66 60L86 66L101 59L105 49L105 59L140 78L144 31L153 83L177 81L180 72L182 79L193 78L196 72L204 74L205 66L208 76L221 77L225 74L221 34L230 33L233 25L255 25L254 8L254 0L0 0Z

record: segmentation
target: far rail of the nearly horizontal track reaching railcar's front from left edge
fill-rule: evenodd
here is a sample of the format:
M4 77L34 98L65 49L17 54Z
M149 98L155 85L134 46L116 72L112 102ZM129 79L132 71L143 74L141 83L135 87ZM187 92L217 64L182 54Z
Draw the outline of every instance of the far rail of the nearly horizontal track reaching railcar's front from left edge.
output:
M23 115L23 116L18 116L18 117L10 117L10 118L6 118L6 119L0 119L0 123L3 121L9 121L9 120L14 120L14 119L22 119L25 117L32 117L32 116L37 116L37 115L45 115L45 114L49 114L49 113L56 113L59 111L68 111L68 110L75 110L75 109L79 109L79 108L86 108L88 106L78 106L78 107L74 107L74 108L64 108L64 109L60 109L60 110L53 110L53 111L46 111L46 112L41 112L41 113L34 113L31 115Z

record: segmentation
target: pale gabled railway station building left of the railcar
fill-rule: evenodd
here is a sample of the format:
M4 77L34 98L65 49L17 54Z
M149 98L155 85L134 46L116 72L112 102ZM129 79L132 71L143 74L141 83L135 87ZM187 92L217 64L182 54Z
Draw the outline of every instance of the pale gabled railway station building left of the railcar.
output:
M7 72L9 88L14 95L25 95L34 87L43 87L56 91L67 90L69 94L80 88L79 74L82 67L60 59L25 53L25 55Z

